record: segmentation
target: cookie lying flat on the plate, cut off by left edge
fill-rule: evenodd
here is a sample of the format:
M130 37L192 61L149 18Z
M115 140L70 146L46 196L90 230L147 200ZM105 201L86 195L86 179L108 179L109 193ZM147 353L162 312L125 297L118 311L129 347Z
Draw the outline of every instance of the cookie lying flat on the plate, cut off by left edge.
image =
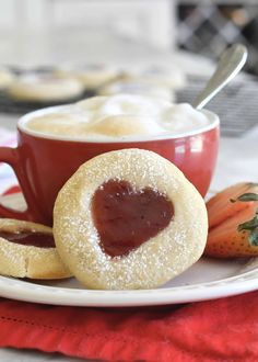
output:
M9 218L0 219L0 274L31 279L71 276L57 252L50 227Z

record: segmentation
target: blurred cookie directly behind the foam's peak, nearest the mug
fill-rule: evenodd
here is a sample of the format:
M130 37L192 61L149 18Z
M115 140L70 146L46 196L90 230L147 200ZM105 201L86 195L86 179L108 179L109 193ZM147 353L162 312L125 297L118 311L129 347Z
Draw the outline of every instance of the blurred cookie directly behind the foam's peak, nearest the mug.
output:
M120 93L155 97L171 102L174 102L176 99L174 91L166 86L129 80L116 81L97 90L98 95L114 95Z

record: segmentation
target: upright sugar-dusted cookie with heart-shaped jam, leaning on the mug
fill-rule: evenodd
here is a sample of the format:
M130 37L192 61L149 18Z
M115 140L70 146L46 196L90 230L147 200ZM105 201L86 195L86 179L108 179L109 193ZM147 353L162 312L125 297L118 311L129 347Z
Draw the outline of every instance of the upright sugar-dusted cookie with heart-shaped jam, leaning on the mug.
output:
M194 264L207 241L203 199L163 157L125 149L85 162L59 192L57 249L84 285L151 289Z

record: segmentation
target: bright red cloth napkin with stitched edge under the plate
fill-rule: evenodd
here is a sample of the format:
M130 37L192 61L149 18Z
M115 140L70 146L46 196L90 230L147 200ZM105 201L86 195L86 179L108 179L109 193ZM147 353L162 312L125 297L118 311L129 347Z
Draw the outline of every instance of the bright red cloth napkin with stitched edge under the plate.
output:
M188 305L83 308L0 298L0 347L103 361L258 361L258 291Z

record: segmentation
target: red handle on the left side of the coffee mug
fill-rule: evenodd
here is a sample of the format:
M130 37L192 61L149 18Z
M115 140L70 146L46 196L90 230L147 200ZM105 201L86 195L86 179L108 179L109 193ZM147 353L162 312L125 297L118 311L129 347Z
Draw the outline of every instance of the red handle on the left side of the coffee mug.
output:
M11 166L11 168L13 169L27 204L27 208L23 212L12 210L0 204L0 217L15 218L21 220L32 220L32 222L36 222L37 219L40 219L40 215L38 214L38 211L33 206L35 203L32 202L30 195L27 195L26 192L26 190L28 190L27 182L24 172L19 166L17 148L0 147L0 162L5 162L9 166Z

